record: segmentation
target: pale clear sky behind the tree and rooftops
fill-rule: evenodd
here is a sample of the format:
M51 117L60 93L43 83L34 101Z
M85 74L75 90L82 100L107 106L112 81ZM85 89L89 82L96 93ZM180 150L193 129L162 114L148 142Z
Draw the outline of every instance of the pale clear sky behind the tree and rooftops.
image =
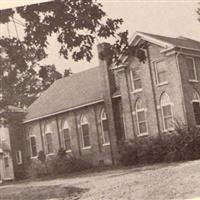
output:
M0 0L0 8L22 6L30 3L44 2L42 0ZM103 10L109 17L122 18L124 23L122 30L127 29L130 36L135 31L142 31L166 36L178 37L180 35L200 40L200 22L196 10L200 4L198 1L189 0L102 0ZM14 25L9 28L12 34L16 34ZM19 35L23 35L22 28L18 28ZM0 27L1 34L8 34L5 26ZM79 72L98 65L97 49L94 47L94 57L90 63L65 60L57 52L59 44L55 38L50 39L48 58L45 64L55 64L61 72L71 68L73 72Z

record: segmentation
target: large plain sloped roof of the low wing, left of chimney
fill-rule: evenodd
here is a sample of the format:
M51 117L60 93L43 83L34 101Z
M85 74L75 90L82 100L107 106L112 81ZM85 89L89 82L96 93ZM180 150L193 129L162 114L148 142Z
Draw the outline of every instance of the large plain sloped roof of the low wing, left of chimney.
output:
M102 100L99 67L55 81L28 108L25 122Z

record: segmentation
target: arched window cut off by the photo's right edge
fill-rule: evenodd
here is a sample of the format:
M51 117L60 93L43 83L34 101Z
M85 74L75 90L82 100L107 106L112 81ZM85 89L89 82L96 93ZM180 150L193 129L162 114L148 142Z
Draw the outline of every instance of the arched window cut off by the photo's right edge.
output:
M192 106L194 110L196 125L200 125L200 98L197 91L193 92Z

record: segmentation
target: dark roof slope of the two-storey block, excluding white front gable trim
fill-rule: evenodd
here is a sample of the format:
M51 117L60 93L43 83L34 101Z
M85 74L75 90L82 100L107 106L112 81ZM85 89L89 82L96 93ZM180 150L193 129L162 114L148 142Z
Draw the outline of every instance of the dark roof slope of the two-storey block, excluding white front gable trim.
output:
M184 48L192 48L192 49L198 49L200 50L200 41L197 40L193 40L190 38L186 38L186 37L166 37L166 36L162 36L162 35L156 35L156 34L150 34L150 33L144 33L144 32L138 32L141 33L142 35L146 35L149 36L151 38L163 41L163 42L167 42L172 44L173 46L176 47L184 47Z

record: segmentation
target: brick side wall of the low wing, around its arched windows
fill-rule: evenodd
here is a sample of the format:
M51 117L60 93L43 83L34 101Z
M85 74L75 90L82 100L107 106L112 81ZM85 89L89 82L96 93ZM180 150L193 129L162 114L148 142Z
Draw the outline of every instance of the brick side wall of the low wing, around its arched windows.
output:
M116 100L116 107L118 107L119 100ZM75 111L60 114L58 116L53 116L48 119L43 119L41 121L30 122L26 124L26 138L31 135L36 136L37 151L43 150L46 152L46 143L44 137L44 127L46 123L49 123L53 132L53 149L54 154L57 153L59 145L59 137L61 140L61 147L63 146L63 136L61 130L61 121L63 119L67 120L70 135L71 135L71 149L72 154L76 157L81 157L94 165L104 162L105 164L111 164L112 158L110 153L110 145L102 144L102 126L101 126L101 111L104 108L103 103L99 103L93 106L84 107ZM82 133L80 119L81 116L85 115L89 122L89 133L91 148L83 148L82 144ZM118 130L122 130L122 118L121 111L117 112L116 120L118 121ZM56 118L58 121L58 128L56 123ZM40 131L40 124L42 127L42 134ZM59 130L59 131L58 131ZM121 133L119 133L121 134ZM42 135L42 137L41 137ZM59 136L60 135L60 136ZM121 137L122 138L122 137ZM42 145L42 140L44 145ZM44 146L44 147L43 147ZM30 156L29 143L26 143L26 157ZM36 158L33 158L36 159Z

